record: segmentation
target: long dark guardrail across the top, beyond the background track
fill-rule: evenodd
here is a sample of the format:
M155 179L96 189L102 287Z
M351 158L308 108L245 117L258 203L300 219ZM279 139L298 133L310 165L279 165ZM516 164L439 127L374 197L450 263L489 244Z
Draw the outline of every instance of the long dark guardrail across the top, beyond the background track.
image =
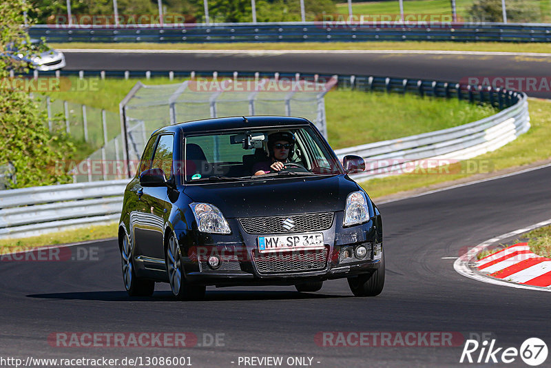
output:
M33 38L65 42L506 41L549 42L544 23L187 23L33 25Z

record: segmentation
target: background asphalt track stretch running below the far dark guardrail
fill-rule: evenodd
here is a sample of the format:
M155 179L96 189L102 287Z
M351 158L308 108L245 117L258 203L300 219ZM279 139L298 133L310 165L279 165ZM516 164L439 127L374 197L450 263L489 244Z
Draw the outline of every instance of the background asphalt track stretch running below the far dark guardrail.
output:
M469 76L550 76L551 57L475 54L65 52L67 70L216 70L356 74L461 81ZM537 88L538 89L538 88ZM551 90L527 91L551 98Z

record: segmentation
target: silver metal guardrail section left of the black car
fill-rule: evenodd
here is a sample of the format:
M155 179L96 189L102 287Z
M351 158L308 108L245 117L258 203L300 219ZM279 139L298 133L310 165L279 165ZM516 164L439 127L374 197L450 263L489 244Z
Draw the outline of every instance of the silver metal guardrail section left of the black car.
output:
M40 235L121 216L128 179L0 191L0 238Z

